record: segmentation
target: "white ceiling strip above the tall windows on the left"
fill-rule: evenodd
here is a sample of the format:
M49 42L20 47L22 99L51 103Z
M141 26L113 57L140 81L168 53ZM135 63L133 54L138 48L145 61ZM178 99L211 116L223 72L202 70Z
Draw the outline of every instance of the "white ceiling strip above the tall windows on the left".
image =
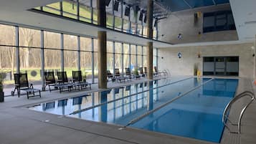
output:
M113 29L104 29L75 19L63 19L54 14L40 14L28 11L37 6L52 4L60 0L0 0L0 22L17 24L23 27L34 27L52 32L62 32L85 37L98 37L98 31L106 31L107 39L115 42L138 44L146 46L151 39L125 34ZM153 47L170 47L171 44L153 40Z

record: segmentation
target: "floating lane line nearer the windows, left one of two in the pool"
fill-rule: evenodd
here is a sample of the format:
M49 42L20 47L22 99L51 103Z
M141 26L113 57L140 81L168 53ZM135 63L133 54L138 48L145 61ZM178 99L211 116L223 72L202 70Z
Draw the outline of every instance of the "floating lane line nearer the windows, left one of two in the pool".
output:
M90 109L93 109L93 108L95 108L95 107L99 107L99 106L101 106L101 105L105 105L105 104L108 104L108 103L111 103L111 102L115 102L115 101L118 101L118 100L122 100L122 99L125 99L125 98L127 98L127 97L132 97L132 96L134 96L134 95L138 95L138 94L141 94L141 93L143 93L143 92L148 92L149 90L155 90L155 89L157 89L157 88L165 87L165 86L167 86L167 85L173 85L173 84L175 84L175 83L177 83L177 82L182 82L182 81L184 81L184 80L189 80L189 79L191 79L191 78L194 78L194 77L188 77L188 78L183 79L183 80L178 80L178 81L176 81L176 82L171 82L171 83L169 83L169 84L161 85L161 86L159 86L159 87L154 87L154 88L152 88L152 89L144 90L144 91L142 91L142 92L137 92L137 93L135 93L135 94L128 95L128 96L126 96L126 97L120 97L120 98L115 99L115 100L110 100L110 101L108 101L108 102L103 102L103 103L100 103L100 104L98 104L98 105L93 105L93 106L91 106L91 107L87 107L87 108L82 109L82 110L76 110L76 111L74 111L74 112L72 112L72 113L70 113L70 114L68 114L68 115L75 115L75 114L77 114L77 113L84 112L84 111L86 111L86 110L90 110ZM67 116L67 115L64 115L64 116Z

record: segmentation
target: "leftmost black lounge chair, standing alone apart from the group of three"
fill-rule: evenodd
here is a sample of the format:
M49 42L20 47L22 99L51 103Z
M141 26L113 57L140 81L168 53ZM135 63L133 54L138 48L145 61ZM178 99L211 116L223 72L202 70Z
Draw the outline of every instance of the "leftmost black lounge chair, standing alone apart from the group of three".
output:
M21 95L20 91L23 90L27 92L27 99L29 97L41 97L41 91L38 89L34 89L33 85L29 85L29 81L27 79L27 73L25 74L14 74L15 81L15 89L11 92L11 95L14 95L15 90L17 90L18 97ZM38 92L38 95L35 93Z

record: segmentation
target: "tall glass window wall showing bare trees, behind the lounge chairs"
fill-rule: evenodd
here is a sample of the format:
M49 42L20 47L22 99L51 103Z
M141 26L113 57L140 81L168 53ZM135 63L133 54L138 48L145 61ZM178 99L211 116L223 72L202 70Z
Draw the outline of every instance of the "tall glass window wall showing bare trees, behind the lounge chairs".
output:
M18 31L19 33L16 33ZM16 34L19 34L19 37L16 37ZM16 40L19 42L18 45ZM154 51L155 59L156 54ZM16 65L17 57L19 57L19 67ZM62 59L64 59L63 63ZM12 88L16 68L22 73L27 72L29 81L41 87L42 62L44 62L44 71L54 72L56 80L57 72L61 69L67 72L68 77L72 77L72 70L80 67L82 75L89 82L93 82L93 77L94 82L97 82L98 40L0 24L0 60L0 72L5 72L7 75L5 85ZM107 42L107 66L110 72L113 72L114 67L120 69L120 72L125 72L126 67L134 70L143 65L146 66L146 47Z

